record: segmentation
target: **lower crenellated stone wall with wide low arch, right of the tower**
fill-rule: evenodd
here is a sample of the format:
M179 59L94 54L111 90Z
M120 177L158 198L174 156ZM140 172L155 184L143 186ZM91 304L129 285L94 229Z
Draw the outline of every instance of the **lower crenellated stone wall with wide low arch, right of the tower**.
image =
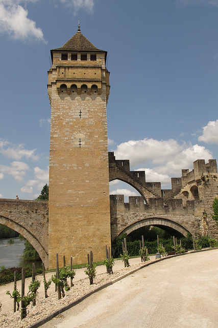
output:
M144 226L156 226L177 237L186 237L188 232L206 235L209 227L203 212L201 201L190 200L183 207L182 199L166 205L162 198L149 198L145 204L143 197L131 196L125 203L124 195L110 195L111 238Z

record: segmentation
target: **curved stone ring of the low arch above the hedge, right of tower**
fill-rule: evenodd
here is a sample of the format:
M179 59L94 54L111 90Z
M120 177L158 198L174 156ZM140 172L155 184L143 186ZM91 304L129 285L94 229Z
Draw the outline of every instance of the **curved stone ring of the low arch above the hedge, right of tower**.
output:
M130 226L123 229L118 234L118 236L122 235L124 233L129 235L134 230L137 230L139 228L146 227L146 226L155 226L155 227L158 227L158 228L161 228L161 229L166 228L166 230L176 231L184 237L187 237L187 233L189 232L186 228L184 228L183 226L181 226L181 224L179 224L177 222L174 222L174 221L169 220L169 219L164 219L164 218L159 218L159 217L152 217L152 218L148 218L148 219L142 219L142 220L139 220L137 222L134 222L134 223L130 224Z

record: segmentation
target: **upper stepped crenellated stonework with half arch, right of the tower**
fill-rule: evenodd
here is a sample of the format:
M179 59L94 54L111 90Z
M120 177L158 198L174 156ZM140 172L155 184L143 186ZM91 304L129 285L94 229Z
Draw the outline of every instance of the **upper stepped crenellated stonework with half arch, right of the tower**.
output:
M115 159L113 152L109 152L108 155L110 181L119 179L129 183L147 202L151 197L162 197L168 203L170 199L178 198L182 193L180 195L182 199L199 199L198 189L202 183L207 183L208 179L213 180L215 183L218 181L216 160L209 159L209 162L205 164L204 159L198 159L193 162L194 168L191 172L185 169L182 170L181 177L171 178L172 189L161 189L160 182L146 182L146 173L144 171L130 171L129 160Z

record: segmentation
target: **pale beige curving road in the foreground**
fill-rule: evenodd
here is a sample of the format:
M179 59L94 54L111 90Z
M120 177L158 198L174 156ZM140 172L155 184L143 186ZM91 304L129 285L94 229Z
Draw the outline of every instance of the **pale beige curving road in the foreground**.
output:
M152 264L88 297L43 328L215 328L218 250Z

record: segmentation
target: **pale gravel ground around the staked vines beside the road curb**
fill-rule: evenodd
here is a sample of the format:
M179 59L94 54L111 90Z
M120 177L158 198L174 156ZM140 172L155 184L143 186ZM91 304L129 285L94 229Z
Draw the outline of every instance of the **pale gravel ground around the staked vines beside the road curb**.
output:
M155 257L151 257L151 261L153 261ZM32 306L31 304L28 306L28 315L27 318L20 320L20 311L13 313L13 299L10 298L9 295L6 295L6 291L13 291L13 282L0 286L0 301L2 302L2 312L0 314L0 326L1 327L10 327L10 328L26 328L31 324L41 320L43 317L46 317L53 313L54 311L63 308L63 306L75 301L76 299L82 297L90 291L99 288L103 284L120 277L129 271L132 271L136 268L139 268L144 263L139 262L140 258L130 259L130 267L124 268L124 263L120 260L115 261L113 275L106 274L106 268L103 265L99 265L97 267L97 275L94 279L93 285L89 285L89 279L84 273L85 268L77 269L76 276L74 279L74 286L70 289L70 291L65 293L65 297L58 300L57 293L54 292L54 284L52 283L52 287L49 289L48 294L49 298L44 298L44 290L43 290L43 276L37 276L37 279L41 281L41 286L39 289L39 295L37 297L36 306ZM148 262L147 262L148 263ZM53 273L46 274L46 280L48 280ZM31 281L31 278L26 279L26 293L28 290L28 285ZM20 291L21 282L17 282L17 289Z

